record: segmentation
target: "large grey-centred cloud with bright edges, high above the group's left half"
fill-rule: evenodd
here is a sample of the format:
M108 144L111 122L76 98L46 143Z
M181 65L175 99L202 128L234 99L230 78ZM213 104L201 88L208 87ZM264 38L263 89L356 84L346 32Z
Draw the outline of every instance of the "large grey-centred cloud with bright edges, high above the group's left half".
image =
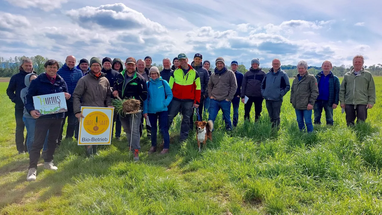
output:
M161 24L147 19L142 13L126 7L123 3L86 6L66 12L74 22L83 28L92 28L97 24L113 30L142 30L146 33L165 33L167 30Z

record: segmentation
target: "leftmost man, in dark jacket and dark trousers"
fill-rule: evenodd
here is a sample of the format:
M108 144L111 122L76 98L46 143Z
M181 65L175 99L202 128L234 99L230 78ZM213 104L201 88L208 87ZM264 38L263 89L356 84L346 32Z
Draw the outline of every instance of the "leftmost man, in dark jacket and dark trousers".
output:
M26 140L24 143L24 103L21 100L20 92L25 88L25 76L30 73L36 73L33 71L33 62L31 59L23 59L19 68L19 73L13 75L9 81L8 88L6 88L6 94L13 103L15 103L15 119L16 119L16 135L15 142L16 148L19 154L23 154L28 151L26 146Z

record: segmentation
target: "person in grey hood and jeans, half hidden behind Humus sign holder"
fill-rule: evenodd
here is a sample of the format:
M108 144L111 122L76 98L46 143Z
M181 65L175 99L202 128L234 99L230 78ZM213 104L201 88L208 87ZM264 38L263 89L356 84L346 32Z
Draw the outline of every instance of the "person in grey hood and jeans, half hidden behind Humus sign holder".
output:
M37 78L37 75L35 73L29 73L28 75L25 76L25 86L26 86L26 88L23 88L23 90L21 90L21 92L20 92L21 100L23 101L24 105L25 105L25 96L28 93L29 85L31 85L31 82L33 80L35 80L36 78ZM35 126L36 125L36 119L34 119L31 116L31 114L29 114L28 111L26 111L25 107L24 107L23 122L25 124L26 131L28 133L28 138L27 138L27 141L26 141L26 145L27 145L28 151L31 151L32 144L33 144L33 141L34 141L34 129L36 127ZM41 158L45 158L45 155L47 153L47 149L48 149L48 135L49 135L49 131L48 131L47 137L45 138L44 146L42 147Z

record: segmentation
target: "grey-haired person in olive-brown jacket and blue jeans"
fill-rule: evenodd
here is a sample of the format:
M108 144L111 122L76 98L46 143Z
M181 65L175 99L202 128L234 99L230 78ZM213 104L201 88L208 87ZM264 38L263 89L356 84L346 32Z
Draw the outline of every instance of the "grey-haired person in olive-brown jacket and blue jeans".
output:
M301 60L297 64L298 75L293 80L290 91L290 103L296 111L298 128L313 132L312 109L318 96L317 80L308 73L308 63Z

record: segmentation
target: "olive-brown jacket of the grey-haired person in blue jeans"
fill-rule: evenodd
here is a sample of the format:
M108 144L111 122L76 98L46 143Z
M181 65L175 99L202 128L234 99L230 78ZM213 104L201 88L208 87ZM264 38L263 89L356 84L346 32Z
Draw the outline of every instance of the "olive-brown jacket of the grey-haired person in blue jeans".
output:
M293 104L293 108L298 110L306 110L308 104L314 106L318 96L317 80L314 75L306 73L301 80L298 80L300 75L294 76L291 91L290 91L290 103Z

